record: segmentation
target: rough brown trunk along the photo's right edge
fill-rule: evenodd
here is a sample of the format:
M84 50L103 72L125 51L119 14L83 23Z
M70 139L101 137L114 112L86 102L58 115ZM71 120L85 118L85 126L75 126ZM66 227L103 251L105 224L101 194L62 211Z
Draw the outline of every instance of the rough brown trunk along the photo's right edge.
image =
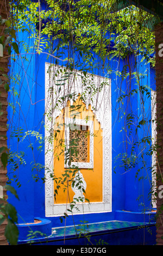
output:
M163 23L155 26L155 54L156 54L156 125L157 125L157 192L156 199L156 244L163 245L163 51L160 51L159 45L163 46ZM162 187L161 187L162 186Z

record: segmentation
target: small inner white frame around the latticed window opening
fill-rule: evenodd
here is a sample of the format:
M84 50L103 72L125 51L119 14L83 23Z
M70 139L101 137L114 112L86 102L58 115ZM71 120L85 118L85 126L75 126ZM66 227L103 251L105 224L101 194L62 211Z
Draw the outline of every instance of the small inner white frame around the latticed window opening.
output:
M78 124L78 125L85 125L89 126L90 130L90 162L71 162L71 166L76 166L78 168L93 168L93 121L85 121L83 119L76 118L65 118L65 138L66 138L66 146L69 148L69 141L70 141L70 129L69 124ZM65 167L67 164L65 164Z

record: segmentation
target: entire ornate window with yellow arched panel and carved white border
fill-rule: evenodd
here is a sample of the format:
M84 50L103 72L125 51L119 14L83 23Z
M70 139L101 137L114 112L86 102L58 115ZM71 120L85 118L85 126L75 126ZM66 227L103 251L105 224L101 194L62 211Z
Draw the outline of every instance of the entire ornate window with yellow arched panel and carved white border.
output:
M90 94L85 89L85 83L83 86L83 75L80 71L75 71L72 74L70 83L67 82L65 74L64 86L58 86L61 79L64 79L64 67L53 65L51 63L45 64L45 214L48 217L62 216L65 209L69 207L64 196L58 196L58 201L55 201L54 191L55 183L52 179L54 170L56 175L61 175L67 167L79 167L79 172L75 176L74 182L78 183L79 179L82 179L84 189L86 189L86 196L90 200L90 203L83 200L83 204L78 204L78 209L73 209L73 214L82 214L83 210L85 214L98 213L98 212L110 212L111 211L111 81L108 78L102 76L96 76L87 74L88 79L93 83L94 94ZM61 70L61 71L60 71ZM66 71L67 72L67 71ZM70 72L71 73L71 72ZM54 81L55 74L57 80ZM71 84L71 81L73 84ZM62 156L60 162L53 161L54 157L54 141L52 142L49 137L53 133L54 125L52 121L57 121L57 118L66 113L67 103L63 106L62 103L58 103L58 97L65 97L70 93L75 95L75 99L70 100L70 106L73 105L74 100L78 100L78 95L85 95L84 107L86 111L91 111L93 119L86 119L83 117L71 118L70 115L64 115L64 130L60 133L65 140L64 155L68 153L70 149L72 139L78 137L78 144L72 150L70 157L72 159L71 166L68 166L65 160L65 156ZM58 103L58 108L54 106ZM74 129L75 127L75 129ZM89 135L89 136L87 136ZM94 136L96 135L96 136ZM63 148L62 148L63 150ZM70 151L71 152L71 151ZM67 154L68 155L68 154ZM98 190L97 190L98 187ZM82 197L83 194L78 194L76 186L72 186L72 198Z

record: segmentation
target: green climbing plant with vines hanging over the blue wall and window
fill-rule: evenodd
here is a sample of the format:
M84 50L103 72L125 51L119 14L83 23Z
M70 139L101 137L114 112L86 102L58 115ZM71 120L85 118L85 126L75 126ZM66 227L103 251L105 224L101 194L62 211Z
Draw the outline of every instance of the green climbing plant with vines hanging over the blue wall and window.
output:
M135 8L133 5L118 10L119 1L11 1L10 2L10 21L8 38L12 48L9 48L10 54L10 87L9 91L9 154L8 154L8 176L9 184L17 184L17 190L21 187L19 179L23 166L26 166L28 160L23 152L23 143L28 144L28 154L30 154L31 178L34 181L46 182L45 168L39 157L44 154L43 148L45 141L53 143L57 141L58 148L61 148L59 154L55 150L54 158L60 159L65 154L66 141L60 137L60 127L65 123L58 124L54 130L53 114L57 113L67 106L67 102L73 101L70 106L70 113L74 120L77 113L80 114L82 104L74 105L76 97L86 102L89 95L89 103L95 100L99 90L105 88L106 84L96 87L90 74L96 74L110 78L114 84L114 108L116 114L114 126L121 123L122 141L120 143L121 153L115 155L115 161L118 160L118 166L114 171L117 173L122 169L121 174L135 172L135 178L141 177L141 166L144 167L143 177L146 176L151 187L152 180L149 178L149 166L146 162L146 156L151 157L155 150L152 135L150 133L151 114L150 109L146 109L146 102L151 100L151 87L149 86L148 75L150 68L154 68L154 33L149 29L153 15ZM10 41L11 40L11 41ZM1 41L0 41L1 42ZM113 44L114 42L114 44ZM5 46L4 46L5 47ZM15 52L13 51L13 48ZM51 108L39 116L37 127L29 125L30 120L26 119L28 113L34 111L33 106L44 101L40 97L33 96L33 91L39 94L39 85L37 77L29 71L29 65L33 61L33 56L45 54L47 62L55 66L54 76L51 77L55 86L49 91L49 101ZM122 65L120 65L120 63ZM146 64L147 70L144 73L141 70L141 63ZM60 69L60 66L62 69ZM37 66L39 69L39 66ZM64 72L62 71L64 69ZM73 85L76 72L82 74L82 94L75 95ZM49 76L50 74L49 70ZM60 79L61 76L61 79ZM125 81L126 87L123 87L122 81ZM144 82L146 81L146 83ZM32 82L33 86L30 87ZM65 84L68 84L68 90L64 90ZM26 85L24 85L26 84ZM64 92L64 93L60 93ZM57 95L58 97L54 97ZM25 97L29 99L28 111L23 113L22 105ZM135 112L133 102L139 99L140 108ZM26 103L25 103L26 104ZM95 102L93 105L96 105ZM39 109L35 108L39 112ZM96 108L93 109L96 113ZM29 118L29 117L28 117ZM45 118L51 121L51 136L46 138L43 133ZM21 121L20 121L21 120ZM57 120L57 119L56 119ZM23 124L23 127L20 126ZM28 126L29 125L29 126ZM49 128L49 127L48 127ZM87 136L90 136L87 133ZM21 147L22 144L22 147ZM60 193L60 190L68 191L68 187L77 186L86 194L82 180L74 182L74 177L79 168L71 166L72 157L77 153L78 139L72 139L69 148L66 151L66 162L69 166L60 176L55 175L49 168L47 173L51 174L54 180L55 190L54 198ZM14 145L14 146L13 146ZM15 147L17 145L17 147ZM136 150L139 148L139 151ZM15 150L17 148L17 150ZM13 151L14 149L14 151ZM37 149L37 153L36 153ZM39 156L39 157L38 157ZM38 158L38 159L37 159ZM53 160L52 160L53 161ZM152 167L153 168L153 167ZM152 169L154 172L154 170ZM76 184L76 185L75 185ZM78 199L83 202L83 198ZM89 202L89 198L85 198ZM73 214L73 208L78 208L77 202L69 199L70 208L68 213ZM141 204L142 206L142 204ZM146 205L143 205L143 209ZM151 201L148 208L151 209ZM64 216L68 214L65 211Z

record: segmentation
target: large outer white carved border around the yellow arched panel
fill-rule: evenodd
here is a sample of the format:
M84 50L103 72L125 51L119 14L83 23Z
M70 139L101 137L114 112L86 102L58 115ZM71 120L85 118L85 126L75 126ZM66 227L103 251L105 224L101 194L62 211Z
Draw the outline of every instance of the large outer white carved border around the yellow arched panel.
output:
M49 141L49 136L53 131L52 119L55 120L61 113L61 109L65 106L58 106L57 111L53 113L50 117L51 109L53 109L53 104L58 97L59 87L55 86L53 81L54 71L56 68L61 68L61 66L52 65L51 63L45 63L45 111L48 115L45 115L45 215L47 217L62 216L66 209L68 209L68 204L56 204L54 201L54 181L51 178L53 174L53 143ZM51 76L49 76L48 70L51 70ZM82 95L82 78L81 72L77 71L76 80L74 81L74 86L71 89L72 92L80 93ZM91 75L91 74L90 74ZM91 213L101 213L111 211L111 200L112 200L112 189L111 189L111 172L112 172L112 158L111 158L111 81L109 78L94 75L94 84L99 87L102 82L107 82L98 93L92 97L95 100L91 102L91 109L96 109L93 111L96 115L97 121L101 124L101 129L103 130L103 201L95 203L80 203L78 204L78 210L73 209L73 214L91 214ZM53 87L53 103L51 99L51 90ZM63 90L62 90L63 88ZM65 90L68 88L67 82L64 87L61 87L60 95L66 94ZM87 95L87 109L90 104L90 96ZM96 99L98 99L96 101ZM72 102L73 103L73 102ZM87 124L88 125L88 124ZM91 127L91 124L90 124ZM93 137L93 136L92 136Z

